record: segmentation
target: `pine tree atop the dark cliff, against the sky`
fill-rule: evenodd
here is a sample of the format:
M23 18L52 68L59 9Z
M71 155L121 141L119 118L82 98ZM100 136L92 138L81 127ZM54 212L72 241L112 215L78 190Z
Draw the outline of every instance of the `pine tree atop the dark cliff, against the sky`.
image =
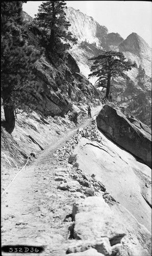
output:
M71 25L66 20L65 8L65 1L47 1L39 6L38 14L35 15L37 26L43 30L47 38L48 51L61 53L70 48L69 41L77 43L77 39L67 31Z

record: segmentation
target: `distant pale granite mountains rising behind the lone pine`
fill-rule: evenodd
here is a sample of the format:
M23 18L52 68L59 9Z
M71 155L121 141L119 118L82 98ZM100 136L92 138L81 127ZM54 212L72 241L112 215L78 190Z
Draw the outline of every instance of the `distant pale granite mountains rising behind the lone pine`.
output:
M105 26L100 26L80 10L69 7L66 14L71 24L69 30L78 37L79 42L69 52L77 62L80 72L86 77L90 74L92 65L88 59L103 50L121 51L126 60L136 61L138 68L126 72L130 82L121 78L113 79L111 91L115 102L124 105L130 113L151 126L151 48L148 44L136 33L132 33L125 40L118 33L108 33ZM142 87L137 79L139 66L145 70ZM94 84L95 78L90 81Z

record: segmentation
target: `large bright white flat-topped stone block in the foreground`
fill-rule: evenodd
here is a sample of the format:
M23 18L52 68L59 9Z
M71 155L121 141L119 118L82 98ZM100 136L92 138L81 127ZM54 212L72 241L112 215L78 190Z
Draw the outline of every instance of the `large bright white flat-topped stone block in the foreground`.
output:
M73 204L74 238L97 239L125 236L126 230L102 197L87 197Z

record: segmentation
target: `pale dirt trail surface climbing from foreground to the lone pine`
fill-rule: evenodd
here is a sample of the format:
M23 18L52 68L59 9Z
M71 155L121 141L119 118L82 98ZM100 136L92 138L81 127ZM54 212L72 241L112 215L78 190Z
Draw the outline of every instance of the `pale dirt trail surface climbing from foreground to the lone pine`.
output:
M93 109L92 118L102 108ZM65 255L71 223L64 220L71 214L75 198L70 191L57 189L60 182L54 180L55 170L69 168L69 164L58 161L53 154L77 133L79 127L90 125L92 118L85 118L76 129L40 152L11 183L2 197L2 246L45 246L42 253L30 255ZM8 254L3 252L3 255Z

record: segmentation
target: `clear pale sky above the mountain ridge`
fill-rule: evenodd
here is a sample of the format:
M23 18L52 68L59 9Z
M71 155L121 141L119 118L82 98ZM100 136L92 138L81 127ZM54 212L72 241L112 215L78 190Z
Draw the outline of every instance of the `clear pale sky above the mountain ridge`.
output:
M43 1L45 2L45 1ZM132 32L141 36L152 47L152 2L148 1L65 1L67 7L92 16L109 33L119 33L123 39ZM30 16L38 12L42 1L27 1L23 11Z

